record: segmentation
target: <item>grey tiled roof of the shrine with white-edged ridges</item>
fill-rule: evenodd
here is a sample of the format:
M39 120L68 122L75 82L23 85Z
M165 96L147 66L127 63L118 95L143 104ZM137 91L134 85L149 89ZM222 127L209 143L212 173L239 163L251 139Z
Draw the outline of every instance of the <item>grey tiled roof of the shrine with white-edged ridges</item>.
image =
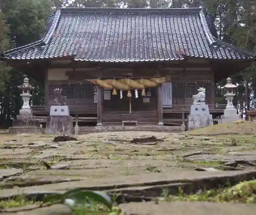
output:
M202 8L61 8L50 15L41 40L7 51L4 58L122 62L254 57L215 36L214 22Z

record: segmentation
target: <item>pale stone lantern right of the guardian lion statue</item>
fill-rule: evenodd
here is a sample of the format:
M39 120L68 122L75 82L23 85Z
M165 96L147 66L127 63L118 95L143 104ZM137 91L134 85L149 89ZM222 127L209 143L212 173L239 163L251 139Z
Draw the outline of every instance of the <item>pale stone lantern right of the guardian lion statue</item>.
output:
M226 97L227 106L224 110L224 115L221 116L222 123L230 123L233 121L239 121L240 115L237 113L237 109L234 108L233 105L233 98L234 98L234 89L237 88L236 85L232 84L231 78L227 78L227 84L224 86L225 89L227 89L226 94L224 94L224 97Z

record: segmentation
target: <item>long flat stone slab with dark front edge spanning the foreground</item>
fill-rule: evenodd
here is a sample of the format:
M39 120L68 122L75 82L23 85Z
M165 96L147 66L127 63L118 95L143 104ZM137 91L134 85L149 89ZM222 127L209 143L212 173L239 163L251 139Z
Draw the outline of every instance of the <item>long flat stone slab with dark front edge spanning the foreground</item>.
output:
M36 192L45 192L51 190L52 192L62 193L66 190L82 187L84 189L92 189L97 187L98 190L117 189L118 186L122 187L138 187L138 186L150 186L150 185L164 185L177 183L179 181L185 181L184 183L195 183L198 185L205 180L210 180L211 183L222 181L227 182L229 178L240 180L252 180L256 177L256 171L228 171L228 172L198 172L198 171L169 171L168 173L150 173L147 175L133 175L133 176L120 176L120 177L101 177L98 179L84 179L79 182L62 182L56 184L45 184L29 187L14 187L10 189L0 190L0 198L9 198L11 196L17 196L20 194L30 194ZM162 189L161 189L162 192Z

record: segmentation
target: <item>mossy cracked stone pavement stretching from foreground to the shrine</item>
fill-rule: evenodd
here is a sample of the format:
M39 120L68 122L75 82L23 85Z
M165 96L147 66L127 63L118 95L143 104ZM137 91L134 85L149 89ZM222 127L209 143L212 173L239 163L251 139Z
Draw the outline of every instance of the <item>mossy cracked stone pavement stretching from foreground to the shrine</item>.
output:
M152 135L155 139L148 138ZM139 138L137 142L135 137ZM143 142L146 137L148 141ZM131 198L153 197L161 195L163 187L177 194L179 186L184 190L212 188L228 179L236 183L256 176L253 136L236 137L236 146L231 145L230 136L164 132L105 132L62 142L54 142L53 138L0 134L0 198L31 192L64 192L76 187L118 190ZM226 162L234 162L236 166L230 170L236 171L222 171ZM55 207L65 206L48 209ZM36 210L51 214L48 209Z

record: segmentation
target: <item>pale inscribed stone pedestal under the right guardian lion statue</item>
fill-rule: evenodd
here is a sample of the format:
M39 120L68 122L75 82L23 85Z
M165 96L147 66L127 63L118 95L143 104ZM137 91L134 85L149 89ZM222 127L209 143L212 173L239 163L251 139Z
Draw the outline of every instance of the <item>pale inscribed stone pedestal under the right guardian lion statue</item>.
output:
M199 129L209 125L213 125L213 122L208 105L204 102L191 105L190 113L187 117L187 130Z

